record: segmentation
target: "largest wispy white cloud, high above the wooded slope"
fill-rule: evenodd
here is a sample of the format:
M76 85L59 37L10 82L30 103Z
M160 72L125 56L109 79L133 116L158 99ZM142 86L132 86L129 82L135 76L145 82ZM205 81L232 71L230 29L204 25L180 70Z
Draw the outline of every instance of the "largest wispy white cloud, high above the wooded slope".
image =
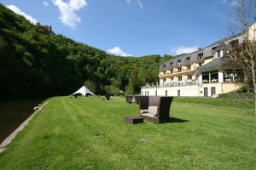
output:
M52 0L60 10L61 16L59 19L65 26L76 27L78 23L81 23L81 18L75 11L87 6L85 0L70 0L69 3L63 2L63 0Z

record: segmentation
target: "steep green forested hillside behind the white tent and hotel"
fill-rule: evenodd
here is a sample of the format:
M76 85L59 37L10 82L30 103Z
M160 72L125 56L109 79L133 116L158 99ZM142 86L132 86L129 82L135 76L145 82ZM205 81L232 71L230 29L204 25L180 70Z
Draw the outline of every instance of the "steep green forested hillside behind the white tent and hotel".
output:
M86 84L96 94L137 94L156 82L172 56L119 57L32 25L0 4L0 99L67 95Z

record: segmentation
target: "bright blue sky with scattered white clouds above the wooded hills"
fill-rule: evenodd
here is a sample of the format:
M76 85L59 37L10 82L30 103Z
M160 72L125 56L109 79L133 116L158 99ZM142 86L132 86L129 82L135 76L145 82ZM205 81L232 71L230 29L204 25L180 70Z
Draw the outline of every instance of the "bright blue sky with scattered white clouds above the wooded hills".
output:
M32 22L108 53L180 54L227 35L236 0L0 0ZM29 18L31 17L31 18Z

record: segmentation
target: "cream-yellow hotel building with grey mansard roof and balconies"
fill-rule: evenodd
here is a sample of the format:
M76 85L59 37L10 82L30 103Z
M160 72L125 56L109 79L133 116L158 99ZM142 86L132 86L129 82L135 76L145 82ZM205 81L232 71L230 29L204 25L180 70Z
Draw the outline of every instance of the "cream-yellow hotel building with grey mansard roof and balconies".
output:
M141 94L217 97L241 88L242 71L235 69L223 56L227 53L227 45L243 40L244 34L240 33L166 61L160 65L160 83L146 84Z

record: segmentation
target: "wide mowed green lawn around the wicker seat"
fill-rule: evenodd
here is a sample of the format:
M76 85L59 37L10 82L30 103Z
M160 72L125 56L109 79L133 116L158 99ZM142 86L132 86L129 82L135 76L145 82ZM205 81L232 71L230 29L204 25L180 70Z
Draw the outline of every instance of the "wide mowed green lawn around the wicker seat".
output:
M48 99L0 169L256 169L253 105L175 99L175 122L131 125L138 106L112 99Z

